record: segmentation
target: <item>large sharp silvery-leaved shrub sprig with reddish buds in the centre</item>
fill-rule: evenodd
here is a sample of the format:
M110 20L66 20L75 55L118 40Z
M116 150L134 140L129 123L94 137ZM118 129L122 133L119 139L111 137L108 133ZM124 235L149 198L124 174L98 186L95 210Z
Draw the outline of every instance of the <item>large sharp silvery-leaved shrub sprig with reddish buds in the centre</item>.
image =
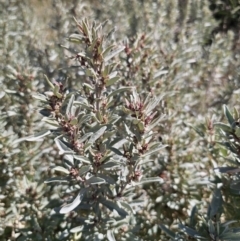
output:
M96 239L131 224L132 215L147 202L144 193L137 197L138 186L162 181L147 177L144 164L165 147L154 141L154 128L163 117L156 111L161 97L148 93L143 99L134 86L117 85L116 56L125 46L108 40L104 24L75 21L79 33L68 40L77 45L71 59L85 76L82 88L69 91L67 82L53 84L46 77L51 91L35 97L42 101L40 113L51 127L27 140L50 134L55 138L63 162L54 170L63 174L45 182L61 185L67 202L55 211L71 212L79 220L78 227L70 224L70 232Z

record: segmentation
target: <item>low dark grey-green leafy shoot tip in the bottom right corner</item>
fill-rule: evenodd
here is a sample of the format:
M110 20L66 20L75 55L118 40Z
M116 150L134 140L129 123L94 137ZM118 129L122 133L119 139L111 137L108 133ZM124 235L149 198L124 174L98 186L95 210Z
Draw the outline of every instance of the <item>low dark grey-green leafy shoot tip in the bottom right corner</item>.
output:
M179 232L174 233L162 224L160 227L171 240L239 240L240 228L231 227L237 221L222 221L222 218L223 198L221 190L216 188L207 212L204 213L194 206L189 221L178 224Z

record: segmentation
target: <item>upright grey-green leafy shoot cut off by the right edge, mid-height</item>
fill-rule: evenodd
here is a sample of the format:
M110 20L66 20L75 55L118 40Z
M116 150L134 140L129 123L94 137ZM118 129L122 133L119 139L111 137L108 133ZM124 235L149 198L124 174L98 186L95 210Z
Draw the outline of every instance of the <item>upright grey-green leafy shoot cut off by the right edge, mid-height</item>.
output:
M226 216L239 220L239 112L238 107L232 110L226 105L223 107L225 121L215 122L219 149L225 162L216 165L218 174L216 183L222 183L225 196Z

